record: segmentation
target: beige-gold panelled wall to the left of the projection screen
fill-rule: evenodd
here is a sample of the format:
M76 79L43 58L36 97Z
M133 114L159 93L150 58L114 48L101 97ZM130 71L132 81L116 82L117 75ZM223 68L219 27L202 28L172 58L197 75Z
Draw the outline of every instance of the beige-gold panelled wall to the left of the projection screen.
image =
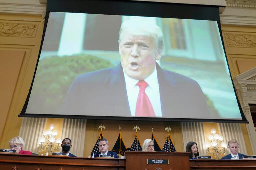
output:
M31 85L43 32L42 16L0 15L1 124L0 147L19 134L18 118ZM20 28L20 32L11 29Z

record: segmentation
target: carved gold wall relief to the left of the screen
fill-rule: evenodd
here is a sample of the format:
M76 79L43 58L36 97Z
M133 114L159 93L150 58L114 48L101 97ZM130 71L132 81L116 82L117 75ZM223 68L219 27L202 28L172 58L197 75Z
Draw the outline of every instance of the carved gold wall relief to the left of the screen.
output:
M0 22L0 36L35 37L38 24Z

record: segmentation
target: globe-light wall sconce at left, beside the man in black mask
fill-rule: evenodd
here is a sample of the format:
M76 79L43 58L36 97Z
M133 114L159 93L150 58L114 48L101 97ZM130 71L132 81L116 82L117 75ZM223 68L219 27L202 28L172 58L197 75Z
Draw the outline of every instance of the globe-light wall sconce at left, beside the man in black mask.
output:
M51 124L50 129L43 131L43 136L39 137L39 146L37 147L37 153L41 154L45 151L44 155L48 155L48 153L59 152L61 139L55 139L55 136L58 134L57 130L53 130L55 128L54 124Z

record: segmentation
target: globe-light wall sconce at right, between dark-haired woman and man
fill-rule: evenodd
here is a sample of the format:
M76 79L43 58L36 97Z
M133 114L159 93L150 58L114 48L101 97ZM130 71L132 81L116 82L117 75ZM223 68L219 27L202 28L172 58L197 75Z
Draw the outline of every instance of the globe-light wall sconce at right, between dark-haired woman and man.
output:
M205 143L207 154L220 159L227 154L227 144L223 142L223 136L216 133L215 128L211 129L211 133L208 136L211 142Z

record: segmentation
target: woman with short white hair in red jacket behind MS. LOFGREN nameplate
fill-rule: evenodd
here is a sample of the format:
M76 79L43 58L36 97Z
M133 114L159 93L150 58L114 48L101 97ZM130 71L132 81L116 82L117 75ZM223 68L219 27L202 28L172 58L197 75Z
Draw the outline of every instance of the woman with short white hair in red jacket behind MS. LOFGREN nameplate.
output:
M23 154L23 155L32 155L32 152L27 150L22 150L22 147L24 147L25 142L20 137L14 137L9 141L9 148L12 150L16 150L16 153Z

